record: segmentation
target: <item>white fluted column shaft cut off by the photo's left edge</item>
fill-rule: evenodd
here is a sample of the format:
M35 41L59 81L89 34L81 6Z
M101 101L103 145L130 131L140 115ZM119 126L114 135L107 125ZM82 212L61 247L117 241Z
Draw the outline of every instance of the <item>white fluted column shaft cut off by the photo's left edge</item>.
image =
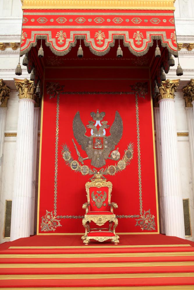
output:
M6 124L7 108L0 107L0 200L1 200L1 186L3 173L3 150L4 150L4 133Z

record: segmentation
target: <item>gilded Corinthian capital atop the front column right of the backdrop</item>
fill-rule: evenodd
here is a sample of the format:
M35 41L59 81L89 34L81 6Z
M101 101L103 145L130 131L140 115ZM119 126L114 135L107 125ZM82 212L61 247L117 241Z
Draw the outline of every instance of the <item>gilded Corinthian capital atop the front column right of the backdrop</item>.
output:
M158 100L163 99L174 99L175 92L177 91L177 87L179 86L180 79L167 79L162 82L162 86L159 87L159 96Z

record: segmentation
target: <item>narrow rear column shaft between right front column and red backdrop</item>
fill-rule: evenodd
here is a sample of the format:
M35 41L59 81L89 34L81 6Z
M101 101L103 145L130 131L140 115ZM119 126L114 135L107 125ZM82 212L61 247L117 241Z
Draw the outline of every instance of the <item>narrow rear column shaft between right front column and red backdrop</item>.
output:
M164 214L164 195L163 195L163 175L162 175L162 147L161 147L161 128L160 128L160 108L154 107L155 128L156 128L156 152L158 165L158 190L160 204L160 228L161 233L165 234L165 214Z

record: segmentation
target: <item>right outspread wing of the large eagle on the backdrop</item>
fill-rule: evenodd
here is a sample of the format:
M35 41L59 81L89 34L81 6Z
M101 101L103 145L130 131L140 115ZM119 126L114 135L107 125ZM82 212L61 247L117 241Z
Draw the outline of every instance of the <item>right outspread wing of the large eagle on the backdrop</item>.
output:
M118 144L123 133L123 122L118 111L115 113L115 120L110 129L111 135L106 137L107 146L113 150Z

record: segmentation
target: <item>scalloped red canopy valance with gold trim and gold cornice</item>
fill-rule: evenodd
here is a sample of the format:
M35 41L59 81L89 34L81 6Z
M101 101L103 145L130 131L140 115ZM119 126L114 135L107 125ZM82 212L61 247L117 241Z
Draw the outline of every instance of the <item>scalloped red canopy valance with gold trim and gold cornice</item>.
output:
M174 0L22 3L21 55L36 46L38 39L45 39L55 55L66 55L77 39L84 39L91 52L100 56L114 46L115 39L122 39L136 56L145 55L153 40L160 39L163 47L177 55Z

